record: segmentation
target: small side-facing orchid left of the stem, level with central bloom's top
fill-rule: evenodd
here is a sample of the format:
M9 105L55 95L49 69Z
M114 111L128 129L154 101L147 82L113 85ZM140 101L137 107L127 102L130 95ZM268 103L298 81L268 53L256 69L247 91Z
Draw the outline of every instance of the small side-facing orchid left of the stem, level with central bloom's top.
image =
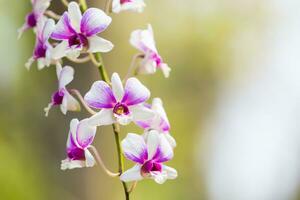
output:
M74 69L70 66L62 68L60 64L57 64L56 74L58 78L58 90L52 94L51 102L44 109L45 115L48 116L51 107L56 105L60 105L63 114L66 114L68 110L80 111L80 104L66 89L66 85L74 78Z

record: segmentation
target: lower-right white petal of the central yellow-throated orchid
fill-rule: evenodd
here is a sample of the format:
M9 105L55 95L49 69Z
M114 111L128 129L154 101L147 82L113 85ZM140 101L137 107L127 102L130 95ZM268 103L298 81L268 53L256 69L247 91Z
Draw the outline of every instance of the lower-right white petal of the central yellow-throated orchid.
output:
M132 113L133 121L146 121L155 117L155 113L151 109L141 104L131 106L130 112Z

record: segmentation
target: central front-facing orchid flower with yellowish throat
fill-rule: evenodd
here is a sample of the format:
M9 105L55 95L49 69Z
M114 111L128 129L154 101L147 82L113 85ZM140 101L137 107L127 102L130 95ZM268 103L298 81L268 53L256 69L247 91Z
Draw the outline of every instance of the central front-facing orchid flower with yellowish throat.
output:
M109 125L115 122L127 125L131 121L147 120L154 116L153 111L143 106L149 99L150 91L136 78L126 81L125 89L117 73L111 77L110 86L104 81L96 81L84 99L95 109L102 109L90 117L93 125Z

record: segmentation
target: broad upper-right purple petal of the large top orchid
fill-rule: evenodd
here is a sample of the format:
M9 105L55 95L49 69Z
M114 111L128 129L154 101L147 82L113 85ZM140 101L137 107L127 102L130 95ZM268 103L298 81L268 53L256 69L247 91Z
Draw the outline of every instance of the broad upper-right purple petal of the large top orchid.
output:
M89 8L82 17L80 30L87 37L104 31L111 23L111 17L100 9Z

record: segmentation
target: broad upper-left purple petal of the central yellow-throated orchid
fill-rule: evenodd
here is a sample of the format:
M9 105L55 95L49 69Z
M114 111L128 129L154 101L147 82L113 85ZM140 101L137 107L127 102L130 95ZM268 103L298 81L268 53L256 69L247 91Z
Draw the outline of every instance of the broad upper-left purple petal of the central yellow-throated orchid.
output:
M84 96L84 100L92 108L113 108L116 99L109 85L104 81L96 81Z

